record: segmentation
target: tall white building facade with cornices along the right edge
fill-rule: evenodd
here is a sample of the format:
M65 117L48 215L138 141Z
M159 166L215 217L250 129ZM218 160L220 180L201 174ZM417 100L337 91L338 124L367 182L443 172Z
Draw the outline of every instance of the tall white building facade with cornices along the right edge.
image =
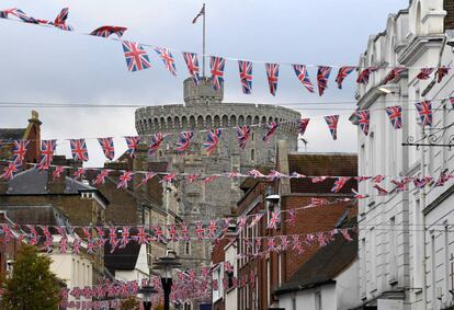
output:
M409 8L388 16L386 30L371 36L361 67L381 67L367 85L357 89L357 108L370 110L368 136L359 129L360 175L433 176L452 172L447 148L402 146L449 143L454 122L449 97L454 90L451 70L441 83L432 72L417 78L421 68L453 66L454 54L446 31L454 28L454 1L413 0ZM401 77L384 85L394 67L406 67ZM435 70L436 71L436 70ZM431 101L432 127L420 125L416 102ZM394 129L386 107L401 105L402 128ZM441 134L444 133L444 136ZM434 141L434 134L440 138ZM360 294L367 309L451 309L453 306L451 259L454 254L454 214L450 205L453 182L423 188L408 183L398 193L388 181L379 183L389 194L378 196L373 181L360 183L367 194L359 206ZM451 230L451 231L450 231ZM454 309L454 308L453 308Z

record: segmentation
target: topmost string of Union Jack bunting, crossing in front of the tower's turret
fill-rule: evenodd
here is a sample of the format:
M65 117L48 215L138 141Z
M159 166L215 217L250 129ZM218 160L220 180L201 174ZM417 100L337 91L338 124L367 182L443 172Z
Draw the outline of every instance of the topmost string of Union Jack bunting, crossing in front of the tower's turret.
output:
M21 22L31 23L36 25L44 25L50 27L57 27L63 31L70 31L75 32L75 28L66 23L68 19L69 9L65 8L61 12L57 15L55 21L48 20L41 20L32 18L24 13L21 9L12 8L0 11L0 18L2 19L10 19L14 16ZM110 26L104 25L95 28L90 33L92 36L99 36L104 38L112 38L120 41L123 47L124 57L126 59L127 70L128 71L140 71L145 69L151 68L151 61L146 50L146 47L150 47L157 54L157 56L162 60L166 69L172 74L177 76L177 66L175 60L172 55L172 50L167 47L158 47L152 46L149 44L143 44L137 42L129 42L124 41L123 35L127 31L126 27L123 26ZM116 36L113 38L111 36ZM198 83L201 81L200 77L200 66L198 66L198 57L195 53L182 53L183 59L186 64L190 77L193 79L194 83ZM274 96L277 91L277 82L279 82L279 71L280 71L280 64L275 62L268 62L268 61L258 61L258 60L245 60L245 59L236 59L231 57L219 57L219 56L206 56L202 55L202 57L209 57L209 67L211 67L211 74L214 82L215 89L220 89L224 84L224 71L226 66L226 60L235 60L238 61L239 68L239 79L241 82L242 92L245 94L252 93L252 64L253 62L262 62L264 64L264 69L266 72L266 80L270 88L270 93ZM420 72L417 73L416 78L419 80L428 80L433 74L436 78L436 81L440 83L452 69L452 66L441 66L441 67L360 67L360 66L316 66L316 65L298 65L298 64L284 64L281 65L288 65L293 69L296 74L296 78L302 82L303 87L310 93L315 92L315 85L309 78L309 73L307 71L307 67L317 67L316 73L316 82L318 88L318 93L321 96L326 89L328 88L328 81L331 76L331 71L333 67L338 67L339 71L336 77L336 83L339 89L342 89L342 83L353 71L357 71L356 83L359 84L367 84L370 81L370 77L372 73L378 71L379 69L387 69L390 68L390 71L383 80L383 84L387 84L388 82L393 82L399 79L407 69L409 68L418 68Z

